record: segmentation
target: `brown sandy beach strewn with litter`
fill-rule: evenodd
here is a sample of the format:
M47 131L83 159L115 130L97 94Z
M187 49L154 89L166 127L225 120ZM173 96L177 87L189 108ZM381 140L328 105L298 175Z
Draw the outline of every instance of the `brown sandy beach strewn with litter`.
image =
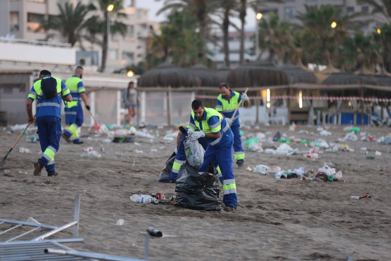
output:
M151 133L155 128L150 128ZM238 194L236 212L206 212L181 209L173 205L134 203L132 194L161 192L175 194L175 184L164 184L157 177L172 154L175 143L162 144L162 135L152 142L135 137L133 143L103 144L84 140L83 145L66 144L56 155L59 176L33 176L33 163L40 157L39 143L22 140L9 155L0 175L0 218L27 220L60 226L73 220L74 197L81 195L79 237L84 243L67 244L76 250L143 258L144 240L140 231L154 227L176 235L176 238L152 239L151 260L390 260L391 258L391 146L377 142L348 141L354 152L325 152L318 159L303 155L278 156L246 151L244 167L234 166ZM332 136L321 137L316 127L260 126L249 133L276 131L287 136L335 142L347 131L330 127ZM310 134L299 134L308 130ZM362 130L364 131L364 130ZM391 132L390 128L368 128L376 138ZM83 128L82 134L88 130ZM7 153L19 131L0 131L1 157ZM30 133L30 135L32 132ZM359 136L359 134L357 134ZM360 136L359 136L360 137ZM101 145L104 151L100 151ZM279 143L276 142L276 147ZM92 146L101 158L82 158L83 148ZM292 148L306 149L291 143ZM20 153L19 148L32 153ZM360 148L368 148L368 155ZM135 150L143 153L136 153ZM151 151L157 149L157 152ZM265 147L264 147L265 149ZM325 149L322 149L325 151ZM375 156L375 151L382 153ZM374 160L366 157L374 156ZM134 162L134 166L133 166ZM278 165L282 169L317 169L332 162L343 172L337 182L303 181L298 178L278 180L274 175L246 171L258 164ZM27 174L25 173L27 172ZM352 200L350 196L370 193L372 198ZM117 226L118 219L124 225ZM0 226L4 230L5 226ZM72 229L56 238L72 237ZM0 241L4 240L0 235ZM29 239L26 237L25 239Z

